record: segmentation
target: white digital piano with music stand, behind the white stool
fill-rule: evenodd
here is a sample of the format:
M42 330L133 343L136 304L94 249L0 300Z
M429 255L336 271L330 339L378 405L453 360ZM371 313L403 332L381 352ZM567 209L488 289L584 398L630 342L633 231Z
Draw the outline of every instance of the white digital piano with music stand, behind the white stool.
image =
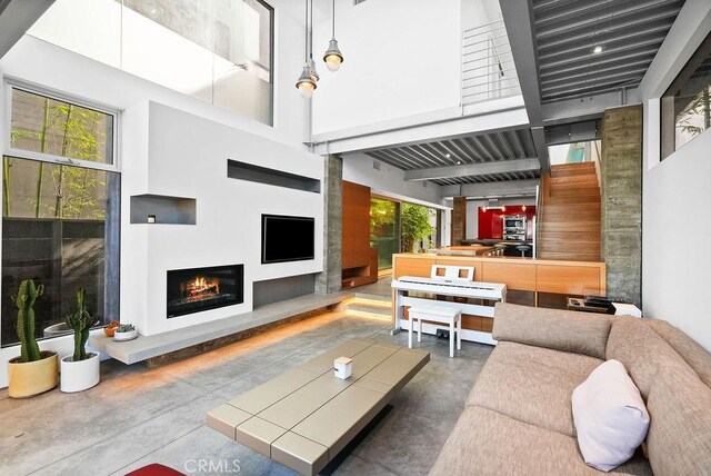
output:
M462 276L462 274L464 276ZM429 305L429 306L449 306L460 309L462 314L474 316L493 317L493 306L482 306L478 304L463 304L435 300L427 297L405 296L408 292L425 292L431 295L457 296L472 299L507 300L507 285L497 282L480 282L472 280L474 268L460 266L441 266L432 265L431 276L429 278L418 276L401 276L392 280L392 289L394 292L394 310L395 327L391 334L394 335L402 330L404 306ZM408 326L410 323L407 324ZM437 327L424 325L423 331L434 334ZM462 329L462 338L464 340L473 340L484 344L495 344L491 338L491 334L479 330Z

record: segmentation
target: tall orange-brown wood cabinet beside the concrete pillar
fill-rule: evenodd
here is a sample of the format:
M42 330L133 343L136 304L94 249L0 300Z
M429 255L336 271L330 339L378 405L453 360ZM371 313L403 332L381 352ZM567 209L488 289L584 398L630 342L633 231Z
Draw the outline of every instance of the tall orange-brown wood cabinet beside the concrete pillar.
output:
M378 259L377 250L370 247L370 188L343 181L342 190L342 287L375 282Z

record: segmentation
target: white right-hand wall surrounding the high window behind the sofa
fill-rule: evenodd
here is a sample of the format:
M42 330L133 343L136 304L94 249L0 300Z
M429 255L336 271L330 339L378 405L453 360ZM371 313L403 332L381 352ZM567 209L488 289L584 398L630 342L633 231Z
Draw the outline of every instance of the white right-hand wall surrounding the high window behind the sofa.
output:
M711 131L660 162L659 98L711 31L711 3L689 0L640 85L644 105L642 310L711 350Z

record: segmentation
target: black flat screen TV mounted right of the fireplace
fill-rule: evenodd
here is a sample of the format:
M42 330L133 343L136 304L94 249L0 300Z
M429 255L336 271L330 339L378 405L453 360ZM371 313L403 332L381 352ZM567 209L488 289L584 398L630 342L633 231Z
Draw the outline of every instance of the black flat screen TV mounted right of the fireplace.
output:
M313 259L314 220L262 215L262 265Z

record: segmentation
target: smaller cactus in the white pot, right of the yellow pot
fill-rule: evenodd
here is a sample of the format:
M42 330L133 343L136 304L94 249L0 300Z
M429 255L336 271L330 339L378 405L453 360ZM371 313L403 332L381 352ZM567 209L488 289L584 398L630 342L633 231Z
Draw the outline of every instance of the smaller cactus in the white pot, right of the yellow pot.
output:
M62 391L81 391L99 383L99 354L87 354L89 330L99 324L99 319L91 317L87 310L86 291L77 291L77 313L64 319L67 327L74 331L74 354L61 359Z

